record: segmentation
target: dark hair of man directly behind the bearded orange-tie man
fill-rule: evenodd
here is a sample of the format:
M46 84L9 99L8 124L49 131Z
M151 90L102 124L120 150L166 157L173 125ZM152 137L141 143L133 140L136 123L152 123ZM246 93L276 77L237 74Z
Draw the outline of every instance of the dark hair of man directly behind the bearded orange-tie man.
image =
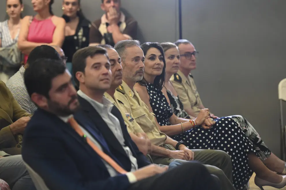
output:
M40 45L34 48L28 56L27 63L30 65L37 59L51 59L51 60L61 60L60 54L55 50L55 48L49 45Z

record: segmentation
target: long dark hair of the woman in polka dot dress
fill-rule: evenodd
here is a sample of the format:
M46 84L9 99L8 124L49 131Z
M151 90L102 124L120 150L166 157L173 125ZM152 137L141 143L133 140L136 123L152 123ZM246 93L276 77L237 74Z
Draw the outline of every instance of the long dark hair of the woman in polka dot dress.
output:
M164 83L165 83L165 70L166 70L166 61L165 61L165 55L164 55L164 50L163 50L163 47L155 42L155 43L151 43L151 42L146 42L146 43L143 43L141 46L141 49L143 50L143 53L144 53L144 56L146 56L148 50L152 47L158 49L162 56L163 56L163 63L164 63L164 67L163 67L163 70L162 70L162 73L161 75L158 75L155 77L155 80L153 82L153 85L155 88L157 88L158 90L162 90L163 86L164 86ZM141 81L138 81L138 83L142 86L146 86L146 80L143 79Z

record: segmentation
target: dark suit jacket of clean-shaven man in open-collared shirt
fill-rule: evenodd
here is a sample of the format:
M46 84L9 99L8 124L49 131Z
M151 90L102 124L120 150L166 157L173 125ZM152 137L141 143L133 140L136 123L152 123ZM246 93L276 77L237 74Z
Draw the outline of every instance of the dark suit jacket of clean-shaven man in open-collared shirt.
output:
M110 152L116 157L119 163L122 164L121 167L129 172L131 170L131 161L127 156L126 152L124 151L123 147L120 145L119 141L113 134L113 132L110 130L110 128L101 118L99 113L92 107L92 105L88 101L81 98L80 96L78 97L78 99L82 109L74 115L77 122L81 126L94 126L93 129L98 131L97 134L102 134L103 138L107 142ZM131 140L122 115L120 111L116 108L116 106L113 106L111 113L115 117L117 117L120 122L121 130L125 140L125 145L129 147L133 156L137 159L138 168L142 168L144 166L149 165L150 162L147 161L146 157L139 151L138 147Z

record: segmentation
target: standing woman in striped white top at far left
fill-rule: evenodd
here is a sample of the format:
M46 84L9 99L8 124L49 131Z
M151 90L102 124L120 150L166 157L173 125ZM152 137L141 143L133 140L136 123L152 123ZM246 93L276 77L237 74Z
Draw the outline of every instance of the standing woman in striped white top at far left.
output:
M6 13L8 14L8 20L0 22L0 47L14 47L17 50L17 41L21 26L21 12L23 12L24 6L22 0L6 0ZM3 52L4 53L4 52ZM18 51L18 55L21 53ZM1 55L2 56L2 55ZM5 56L5 55L3 55ZM21 56L19 56L21 58ZM18 59L17 63L20 64L21 59ZM6 67L0 63L0 80L6 82L10 76L15 73L15 69Z

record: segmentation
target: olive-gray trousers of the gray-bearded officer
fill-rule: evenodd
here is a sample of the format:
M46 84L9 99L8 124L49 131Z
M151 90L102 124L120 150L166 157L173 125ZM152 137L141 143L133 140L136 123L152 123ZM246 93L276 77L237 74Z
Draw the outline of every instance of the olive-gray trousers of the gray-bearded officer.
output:
M170 145L162 146L164 148L175 150ZM221 182L222 190L234 190L232 184L232 164L230 156L224 151L220 150L204 150L195 149L194 160L204 164L211 174L216 175ZM172 161L186 162L185 160L164 158L158 156L151 156L154 164L169 165Z

